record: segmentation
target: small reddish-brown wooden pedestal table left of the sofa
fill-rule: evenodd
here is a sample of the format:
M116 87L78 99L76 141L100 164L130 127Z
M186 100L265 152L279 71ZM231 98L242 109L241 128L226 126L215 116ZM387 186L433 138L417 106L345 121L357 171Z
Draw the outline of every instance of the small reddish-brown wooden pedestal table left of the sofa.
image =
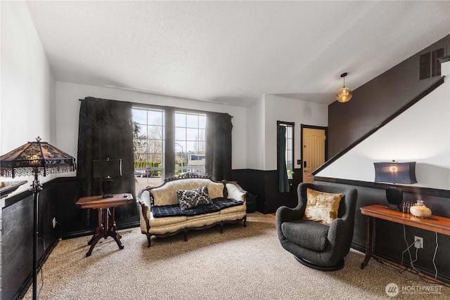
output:
M117 242L117 246L119 249L124 249L124 245L120 242L122 236L120 233L117 233L117 226L115 225L115 208L119 205L128 204L133 200L133 196L129 193L125 194L114 194L113 197L110 198L102 198L102 196L89 196L79 198L75 206L79 209L97 209L98 211L98 225L96 227L94 236L87 243L90 244L91 247L89 251L86 253L86 257L90 256L92 253L92 249L94 249L98 240L102 237L113 237L113 239ZM102 218L103 211L103 218ZM108 216L108 212L110 212L110 216ZM103 219L103 223L102 223Z

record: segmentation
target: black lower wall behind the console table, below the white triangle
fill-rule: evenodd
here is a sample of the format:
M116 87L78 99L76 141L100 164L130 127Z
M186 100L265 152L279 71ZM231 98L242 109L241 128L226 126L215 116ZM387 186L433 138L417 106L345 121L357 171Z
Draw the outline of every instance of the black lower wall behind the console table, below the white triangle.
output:
M354 224L354 235L352 240L352 248L361 252L366 252L366 216L361 214L361 207L372 204L387 205L385 189L389 185L380 183L368 183L362 181L348 181L335 178L316 178L316 183L324 185L351 185L358 190L358 200L356 203L356 216ZM321 181L323 180L323 181ZM404 190L404 201L416 202L417 200L424 200L427 207L430 207L432 214L437 216L445 216L450 218L450 191L435 190L430 188L411 188L400 187ZM405 231L404 231L405 229ZM376 231L376 247L375 253L386 259L401 263L402 252L408 247L404 240L404 232L408 244L414 241L414 236L423 237L423 249L418 250L418 260L414 266L431 276L435 276L435 267L432 259L435 253L435 233L411 226L403 226L401 224L390 221L378 220ZM437 278L450 282L450 236L438 234L437 253L435 263L437 265ZM411 247L411 256L413 260L416 258L416 248ZM362 261L361 261L362 262ZM371 264L377 263L374 259L369 261L366 268L371 268ZM403 256L403 264L410 265L411 260L408 252ZM365 269L366 270L366 269ZM364 270L361 270L363 272Z

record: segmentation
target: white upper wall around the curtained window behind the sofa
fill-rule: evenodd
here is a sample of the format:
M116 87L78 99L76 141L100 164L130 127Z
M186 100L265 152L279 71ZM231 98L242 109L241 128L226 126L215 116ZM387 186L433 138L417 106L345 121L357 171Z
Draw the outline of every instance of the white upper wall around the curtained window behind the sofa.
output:
M233 169L247 168L247 131L245 130L247 126L247 109L245 107L57 81L55 116L56 141L60 148L65 149L70 155L73 154L77 157L78 119L79 107L81 105L79 99L87 96L124 100L132 103L166 105L193 110L229 113L233 116L233 119L231 119L231 122L233 123L231 167Z

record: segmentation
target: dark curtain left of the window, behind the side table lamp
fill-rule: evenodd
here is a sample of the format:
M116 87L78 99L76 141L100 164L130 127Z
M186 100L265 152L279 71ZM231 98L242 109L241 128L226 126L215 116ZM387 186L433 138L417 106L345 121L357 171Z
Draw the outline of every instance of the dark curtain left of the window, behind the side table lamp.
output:
M79 197L101 195L102 178L92 176L92 161L107 158L122 159L122 176L113 177L113 193L132 193L135 197L131 103L86 97L79 110ZM136 204L127 205L126 209L129 214L136 214Z

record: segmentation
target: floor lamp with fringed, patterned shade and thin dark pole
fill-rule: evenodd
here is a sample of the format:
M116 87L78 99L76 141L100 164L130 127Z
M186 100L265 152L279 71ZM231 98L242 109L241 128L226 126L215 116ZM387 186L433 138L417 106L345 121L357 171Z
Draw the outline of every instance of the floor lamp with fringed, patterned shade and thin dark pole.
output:
M38 207L39 191L42 190L39 183L39 174L56 174L75 171L75 158L59 150L49 143L41 142L39 136L35 142L25 145L1 155L0 176L34 176L32 193L34 200L34 225L33 225L33 299L37 299L37 236L38 236Z

